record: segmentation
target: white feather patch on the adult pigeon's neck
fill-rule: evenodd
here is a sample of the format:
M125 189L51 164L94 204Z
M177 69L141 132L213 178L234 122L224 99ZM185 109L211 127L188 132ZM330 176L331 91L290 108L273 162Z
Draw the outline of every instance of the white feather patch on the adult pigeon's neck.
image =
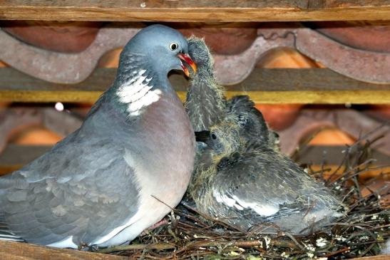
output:
M143 108L155 103L161 97L161 90L151 90L153 85L149 83L152 78L143 76L145 72L146 70L141 69L133 73L133 78L121 85L116 93L121 103L128 104L129 115L140 115Z

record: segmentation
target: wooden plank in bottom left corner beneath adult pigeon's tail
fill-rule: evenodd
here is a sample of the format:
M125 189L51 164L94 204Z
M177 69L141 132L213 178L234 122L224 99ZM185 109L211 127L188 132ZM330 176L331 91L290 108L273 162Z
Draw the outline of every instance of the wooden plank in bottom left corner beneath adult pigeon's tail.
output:
M0 240L0 259L9 260L125 260L128 257Z

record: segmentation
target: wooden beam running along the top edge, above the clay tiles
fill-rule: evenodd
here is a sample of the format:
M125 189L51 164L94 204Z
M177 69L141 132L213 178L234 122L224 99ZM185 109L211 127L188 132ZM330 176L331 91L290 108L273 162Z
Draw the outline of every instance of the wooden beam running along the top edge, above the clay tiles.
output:
M0 19L186 22L389 20L390 1L5 0L0 3Z

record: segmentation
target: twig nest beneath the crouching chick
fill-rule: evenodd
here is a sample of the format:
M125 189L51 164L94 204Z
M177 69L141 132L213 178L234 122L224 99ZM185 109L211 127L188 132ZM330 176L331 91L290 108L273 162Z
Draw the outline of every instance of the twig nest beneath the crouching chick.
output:
M384 199L390 190L384 186L362 197L359 184L359 175L385 168L374 166L370 158L370 145L380 138L368 140L375 132L346 147L336 171L314 172L308 167L349 206L346 216L322 230L307 236L245 232L180 204L159 227L131 244L99 252L142 259L350 259L379 254L390 236L390 202Z

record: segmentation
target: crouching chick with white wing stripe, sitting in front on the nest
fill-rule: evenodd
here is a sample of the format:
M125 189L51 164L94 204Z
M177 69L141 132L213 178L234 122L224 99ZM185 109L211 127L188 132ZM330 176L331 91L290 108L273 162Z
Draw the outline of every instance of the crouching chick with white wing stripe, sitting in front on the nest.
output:
M207 148L188 192L200 212L245 231L274 233L276 224L292 234L307 234L343 215L344 206L327 187L267 142L243 142L240 128L236 120L225 120L209 135L196 135Z

